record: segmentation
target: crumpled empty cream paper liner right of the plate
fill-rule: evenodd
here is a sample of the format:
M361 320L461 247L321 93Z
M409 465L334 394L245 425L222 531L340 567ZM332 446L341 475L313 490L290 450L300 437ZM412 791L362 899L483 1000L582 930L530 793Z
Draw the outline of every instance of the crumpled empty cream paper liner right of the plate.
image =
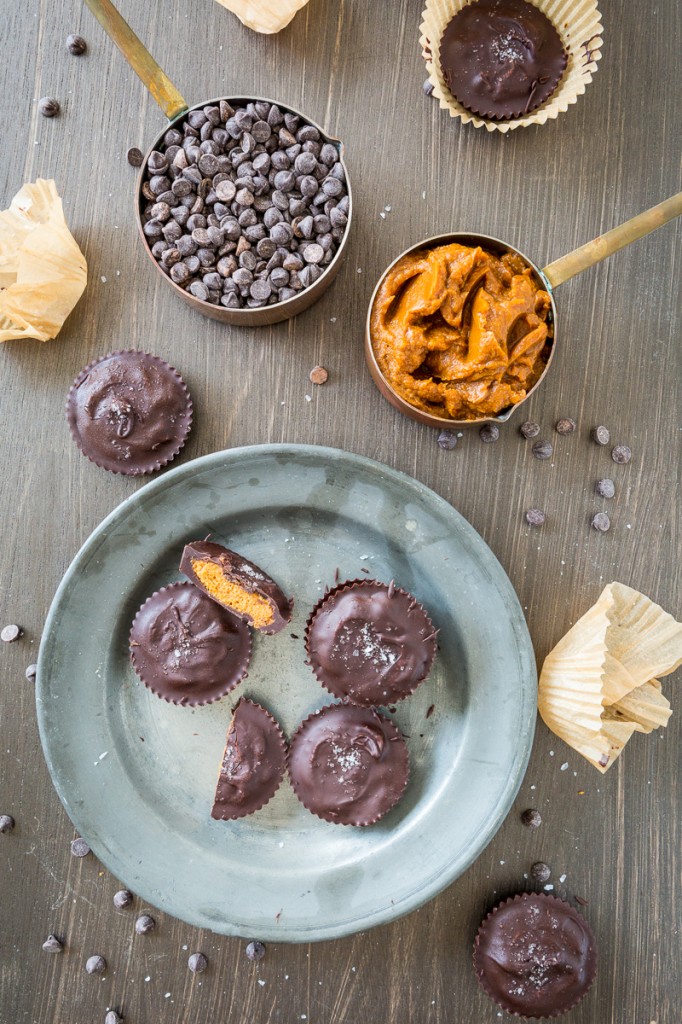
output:
M682 665L682 624L621 583L547 655L538 710L545 724L602 773L633 732L668 724L658 676Z

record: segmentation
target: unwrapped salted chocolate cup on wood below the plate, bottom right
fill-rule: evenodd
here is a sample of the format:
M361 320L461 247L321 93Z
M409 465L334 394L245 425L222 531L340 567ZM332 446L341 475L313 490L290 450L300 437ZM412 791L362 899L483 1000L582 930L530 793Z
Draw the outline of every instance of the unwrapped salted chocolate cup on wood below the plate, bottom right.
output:
M594 981L594 935L572 906L548 893L523 893L500 903L474 943L474 970L485 992L509 1014L557 1017Z

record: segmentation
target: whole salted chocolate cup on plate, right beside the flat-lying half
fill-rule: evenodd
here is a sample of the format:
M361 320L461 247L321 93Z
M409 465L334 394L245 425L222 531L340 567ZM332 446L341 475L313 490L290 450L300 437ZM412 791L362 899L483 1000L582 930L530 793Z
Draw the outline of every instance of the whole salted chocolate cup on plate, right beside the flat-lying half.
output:
M408 784L408 748L373 708L330 705L308 716L289 749L289 777L304 807L325 821L370 825Z

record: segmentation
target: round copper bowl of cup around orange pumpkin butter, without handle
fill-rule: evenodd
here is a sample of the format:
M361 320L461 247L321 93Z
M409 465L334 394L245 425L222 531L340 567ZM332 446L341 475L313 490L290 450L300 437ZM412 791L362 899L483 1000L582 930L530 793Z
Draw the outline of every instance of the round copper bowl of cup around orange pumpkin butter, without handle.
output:
M435 249L438 246L452 245L453 243L459 243L459 245L462 246L480 246L482 249L487 249L488 252L500 256L504 253L516 253L516 255L520 256L524 263L526 263L526 265L532 270L538 286L542 288L543 291L547 292L550 297L551 311L547 323L550 327L550 331L553 332L553 337L549 356L547 358L547 362L545 364L545 369L534 386L528 390L525 397L518 401L515 406L510 406L509 409L505 409L502 413L498 414L498 416L483 416L476 420L451 420L446 417L434 416L433 414L427 413L422 409L417 409L399 395L397 391L394 391L388 383L377 361L374 346L372 345L372 309L374 308L377 294L384 279L390 273L398 260L401 260L404 256L410 256L412 253L415 253L420 249ZM494 239L488 234L474 234L468 231L453 231L450 234L434 234L430 239L424 239L422 242L418 242L416 245L410 246L409 249L406 249L404 252L400 253L400 255L386 267L377 282L368 307L367 321L365 325L365 358L367 360L370 374L372 375L372 380L377 385L384 398L386 398L391 406L397 409L404 416L409 416L412 420L417 420L419 423L425 423L428 427L435 427L438 430L452 429L454 427L457 427L458 429L462 427L480 427L483 423L506 423L510 416L512 416L517 409L520 409L521 406L528 400L530 395L535 394L537 389L545 380L554 357L554 351L556 349L556 305L554 302L554 295L552 293L552 286L540 267L536 266L532 260L529 260L528 257L520 251L520 249L516 249L515 246L510 246L507 242L502 242L501 239Z

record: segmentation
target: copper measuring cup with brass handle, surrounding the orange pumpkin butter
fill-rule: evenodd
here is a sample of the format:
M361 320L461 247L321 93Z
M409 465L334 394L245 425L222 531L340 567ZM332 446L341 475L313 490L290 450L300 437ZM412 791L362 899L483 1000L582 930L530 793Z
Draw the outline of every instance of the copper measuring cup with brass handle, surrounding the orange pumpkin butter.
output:
M436 234L430 239L424 239L416 245L410 246L409 249L406 249L404 252L400 253L400 255L393 260L390 266L384 270L377 283L376 288L374 289L374 292L372 293L372 298L370 299L365 328L365 355L375 384L383 396L387 398L388 401L395 407L395 409L404 413L406 416L410 416L413 420L418 420L420 423L426 423L431 427L437 427L440 430L442 430L443 427L480 426L482 423L487 422L506 423L512 413L519 409L523 402L527 401L530 395L534 394L537 388L540 387L542 382L545 380L552 362L557 343L557 316L556 304L554 301L554 289L558 288L558 286L562 285L565 281L569 281L577 274L582 273L583 270L587 270L588 267L594 266L596 263L601 262L601 260L611 256L613 253L617 252L619 249L624 249L632 242L636 242L637 239L641 239L645 234L655 231L656 228L662 227L664 224L668 223L669 220L673 220L681 214L682 193L678 193L676 196L672 196L670 199L665 200L657 206L653 206L651 209L638 214L631 220L626 220L625 223L620 224L617 227L613 227L610 231L606 231L604 234L600 234L591 242L587 242L579 249L574 249L565 256L561 256L559 259L548 264L548 266L545 266L542 269L538 267L532 260L528 259L528 257L519 249L516 249L514 246L510 246L506 242L500 241L500 239L489 238L486 234L455 231L449 234ZM515 406L510 406L509 409L504 410L498 416L486 416L476 420L451 420L439 416L433 416L432 414L424 412L421 409L416 409L401 395L399 395L388 383L381 368L379 367L372 345L372 309L374 307L374 302L379 288L387 274L390 273L398 260L401 260L403 256L409 256L418 250L434 249L437 246L450 245L452 243L459 243L460 245L472 247L480 246L482 249L486 249L488 252L495 253L496 255L502 255L505 252L516 253L532 270L539 288L542 288L550 296L551 311L548 323L550 324L550 330L553 337L545 369L525 397Z

